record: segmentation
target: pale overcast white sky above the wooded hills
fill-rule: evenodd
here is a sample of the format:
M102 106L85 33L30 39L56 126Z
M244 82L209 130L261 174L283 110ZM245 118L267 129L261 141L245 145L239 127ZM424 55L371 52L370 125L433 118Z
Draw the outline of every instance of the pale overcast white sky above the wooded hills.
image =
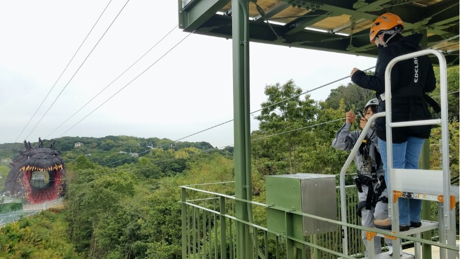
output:
M214 127L233 119L232 40L177 28L177 1L109 2L0 1L0 143L126 135L233 145L233 122ZM293 79L307 91L375 62L250 43L250 111L267 100L266 85ZM251 119L251 131L257 126Z

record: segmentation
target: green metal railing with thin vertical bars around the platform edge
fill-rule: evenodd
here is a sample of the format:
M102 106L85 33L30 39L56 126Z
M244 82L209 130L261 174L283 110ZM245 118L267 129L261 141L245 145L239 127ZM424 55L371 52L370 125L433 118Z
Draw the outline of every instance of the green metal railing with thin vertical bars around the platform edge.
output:
M182 191L182 258L229 258L236 257L236 226L237 223L250 227L250 237L254 250L252 258L356 258L364 254L361 239L363 230L384 234L389 237L402 238L403 244L413 242L434 245L449 250L458 248L440 244L439 242L419 239L400 234L388 234L383 230L364 228L356 215L357 191L354 185L346 186L347 220L341 221L341 203L339 186L337 193L337 220L314 216L300 211L286 210L264 203L241 200L234 197L234 182L220 182L180 186ZM235 201L242 201L253 206L252 222L244 221L235 216ZM286 225L292 223L293 215L301 215L337 224L337 231L306 236L297 239L289 233L278 233L267 228L266 209L270 207L286 214ZM348 222L355 222L348 223ZM343 251L342 228L347 228L348 254ZM434 232L432 237L436 239ZM294 242L300 253L287 249L287 244ZM383 243L383 250L387 247ZM245 258L247 259L247 258Z

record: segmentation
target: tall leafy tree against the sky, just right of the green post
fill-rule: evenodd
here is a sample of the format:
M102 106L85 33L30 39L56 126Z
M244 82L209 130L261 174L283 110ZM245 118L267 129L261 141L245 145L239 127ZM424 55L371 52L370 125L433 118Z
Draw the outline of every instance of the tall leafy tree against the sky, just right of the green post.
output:
M276 161L283 173L297 171L295 152L305 141L305 134L298 129L310 125L318 114L315 101L310 99L309 95L305 95L304 100L301 100L301 93L302 89L292 79L283 85L267 85L265 94L268 100L262 103L261 114L255 116L255 119L260 121L260 131L257 134L269 138L264 138L259 142L261 144L252 138L253 150L259 150L262 146L266 152L258 153L258 156Z

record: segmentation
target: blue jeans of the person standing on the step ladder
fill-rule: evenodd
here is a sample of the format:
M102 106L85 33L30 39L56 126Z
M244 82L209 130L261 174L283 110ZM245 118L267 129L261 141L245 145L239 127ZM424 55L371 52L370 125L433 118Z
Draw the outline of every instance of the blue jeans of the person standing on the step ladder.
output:
M393 143L393 168L418 169L418 159L424 139L409 137L407 142ZM387 143L379 139L380 155L382 156L385 182L388 181L387 172ZM410 225L410 221L420 222L422 201L416 199L399 198L399 224Z

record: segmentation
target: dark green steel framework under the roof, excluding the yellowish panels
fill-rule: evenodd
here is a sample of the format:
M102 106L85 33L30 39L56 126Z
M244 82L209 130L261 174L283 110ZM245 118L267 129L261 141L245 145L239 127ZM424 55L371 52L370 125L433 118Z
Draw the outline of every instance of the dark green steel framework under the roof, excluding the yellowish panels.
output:
M249 5L253 5L253 1L248 0ZM441 1L424 9L423 12L415 11L418 8L411 2L392 4L388 1L376 0L368 3L369 1L363 0L282 0L265 10L267 17L276 15L276 12L289 5L300 5L300 8L311 11L285 25L271 24L276 35L263 21L264 18L258 15L255 20L248 21L249 38L253 42L375 57L377 50L369 43L367 30L355 33L350 41L350 37L347 36L307 31L304 28L327 17L346 14L352 16L353 20L373 20L383 12L399 14L405 21L407 33L427 29L428 35L432 35L428 37L427 46L458 35L458 0ZM179 25L185 31L227 39L232 37L232 17L216 14L223 6L231 3L231 0L178 0L178 3ZM446 56L447 63L457 64L457 57L458 51L451 53ZM433 61L437 63L437 60Z

